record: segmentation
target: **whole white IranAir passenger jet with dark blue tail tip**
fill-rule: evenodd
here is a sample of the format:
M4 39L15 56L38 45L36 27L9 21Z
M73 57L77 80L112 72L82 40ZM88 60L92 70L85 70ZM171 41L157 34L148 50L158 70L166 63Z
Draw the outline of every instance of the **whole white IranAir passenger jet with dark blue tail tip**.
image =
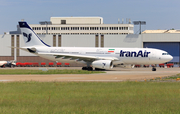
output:
M26 22L19 22L25 47L20 49L56 62L79 62L82 70L133 67L135 64L160 64L173 59L166 51L153 48L51 47L42 41ZM152 71L156 71L152 67Z

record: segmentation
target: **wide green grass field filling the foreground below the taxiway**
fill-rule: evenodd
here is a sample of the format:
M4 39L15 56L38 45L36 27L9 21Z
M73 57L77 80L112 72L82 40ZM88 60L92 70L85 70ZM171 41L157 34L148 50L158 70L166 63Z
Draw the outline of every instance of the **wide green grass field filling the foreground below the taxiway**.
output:
M180 83L8 82L0 83L0 113L179 113Z

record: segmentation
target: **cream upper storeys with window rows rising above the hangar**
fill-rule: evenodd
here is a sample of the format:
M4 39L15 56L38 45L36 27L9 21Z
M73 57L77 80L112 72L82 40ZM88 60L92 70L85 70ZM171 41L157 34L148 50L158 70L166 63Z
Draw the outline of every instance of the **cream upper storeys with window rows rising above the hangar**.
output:
M37 34L133 34L132 24L103 24L102 17L51 17L50 22L30 24Z

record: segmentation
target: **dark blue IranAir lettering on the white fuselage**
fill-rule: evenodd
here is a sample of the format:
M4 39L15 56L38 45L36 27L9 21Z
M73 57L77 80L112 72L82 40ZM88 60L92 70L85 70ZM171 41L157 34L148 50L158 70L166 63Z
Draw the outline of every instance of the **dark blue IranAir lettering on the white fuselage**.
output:
M120 57L148 57L150 53L146 50L144 52L142 50L139 50L139 52L120 50Z

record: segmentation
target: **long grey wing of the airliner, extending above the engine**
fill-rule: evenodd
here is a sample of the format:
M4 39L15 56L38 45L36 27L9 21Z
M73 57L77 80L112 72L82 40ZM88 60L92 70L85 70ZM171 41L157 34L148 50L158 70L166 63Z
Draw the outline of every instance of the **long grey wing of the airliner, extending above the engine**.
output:
M52 55L56 59L69 59L69 60L78 60L78 61L95 61L95 60L119 60L116 57L99 57L99 56L87 56L87 55L76 55L76 54L66 54L66 53L38 53L40 55Z

